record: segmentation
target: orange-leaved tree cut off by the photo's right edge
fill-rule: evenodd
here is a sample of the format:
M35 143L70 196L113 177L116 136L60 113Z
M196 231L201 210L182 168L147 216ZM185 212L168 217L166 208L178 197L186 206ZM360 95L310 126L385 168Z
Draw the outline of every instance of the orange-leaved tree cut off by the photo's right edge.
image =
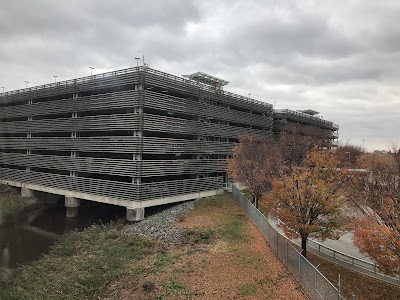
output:
M368 176L353 176L354 200L370 208L356 220L354 243L374 259L383 272L400 273L400 148L388 154L366 153L359 159Z

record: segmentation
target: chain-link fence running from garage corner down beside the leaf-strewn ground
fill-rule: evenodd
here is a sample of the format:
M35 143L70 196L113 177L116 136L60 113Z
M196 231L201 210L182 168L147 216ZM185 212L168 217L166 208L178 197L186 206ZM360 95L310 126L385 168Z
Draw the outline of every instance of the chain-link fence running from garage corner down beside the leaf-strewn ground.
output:
M286 265L301 283L311 299L342 300L340 288L336 288L317 268L315 268L291 244L290 240L276 231L268 219L232 184L232 194L247 216L276 252L277 257Z

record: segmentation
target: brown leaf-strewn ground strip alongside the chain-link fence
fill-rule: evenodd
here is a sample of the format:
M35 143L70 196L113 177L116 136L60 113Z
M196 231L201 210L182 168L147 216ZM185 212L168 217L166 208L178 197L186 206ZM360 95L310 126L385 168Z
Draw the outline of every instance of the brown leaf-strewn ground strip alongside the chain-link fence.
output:
M180 219L186 244L135 266L138 276L102 299L305 299L230 195L202 199Z

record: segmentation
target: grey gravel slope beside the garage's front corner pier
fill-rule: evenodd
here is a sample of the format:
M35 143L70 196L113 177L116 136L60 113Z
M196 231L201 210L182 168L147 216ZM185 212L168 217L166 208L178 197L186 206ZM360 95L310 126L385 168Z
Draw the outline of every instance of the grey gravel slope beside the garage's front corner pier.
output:
M167 245L181 243L185 230L178 224L179 215L185 215L194 208L194 201L186 201L129 225L124 233L128 236L141 235L157 239Z

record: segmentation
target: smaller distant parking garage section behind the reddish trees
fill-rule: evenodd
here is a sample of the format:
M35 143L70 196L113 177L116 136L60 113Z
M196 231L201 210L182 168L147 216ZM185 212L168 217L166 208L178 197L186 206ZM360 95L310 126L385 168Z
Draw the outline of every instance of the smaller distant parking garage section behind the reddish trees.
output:
M316 115L318 112L308 109L293 111L290 109L274 110L273 132L275 135L281 133L312 135L320 138L327 148L336 147L339 138L339 125L324 120Z

